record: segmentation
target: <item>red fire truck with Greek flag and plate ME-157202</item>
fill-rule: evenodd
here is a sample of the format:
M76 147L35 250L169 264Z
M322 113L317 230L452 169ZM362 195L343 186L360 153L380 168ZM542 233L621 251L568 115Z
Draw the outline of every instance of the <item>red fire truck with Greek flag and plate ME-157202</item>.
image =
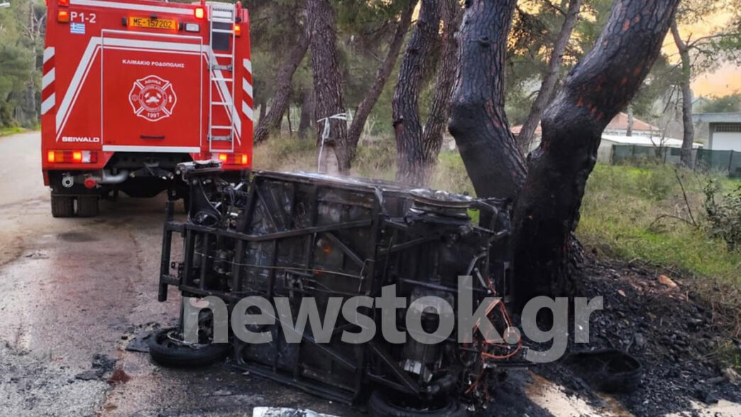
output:
M47 0L41 157L54 217L124 191L184 197L177 164L252 165L247 10L239 3Z

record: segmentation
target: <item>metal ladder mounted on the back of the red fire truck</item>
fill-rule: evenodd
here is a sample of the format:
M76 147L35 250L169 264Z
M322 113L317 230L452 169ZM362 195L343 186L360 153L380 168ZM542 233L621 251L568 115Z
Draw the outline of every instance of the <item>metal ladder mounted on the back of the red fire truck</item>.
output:
M209 59L208 59L208 151L213 152L213 142L230 142L230 148L218 148L217 151L234 151L234 139L236 137L235 117L239 117L234 111L234 52L236 45L236 7L232 3L208 3L209 16ZM229 28L214 27L214 23L229 24ZM213 51L213 34L228 33L231 35L230 53L215 53ZM221 59L222 63L219 63ZM225 61L228 61L225 63ZM228 76L225 75L228 73ZM222 86L225 88L222 89ZM213 97L213 91L222 92L217 94L216 100ZM229 101L223 91L231 91L231 100ZM219 98L224 96L223 99ZM229 116L229 125L214 125L213 111L223 109Z

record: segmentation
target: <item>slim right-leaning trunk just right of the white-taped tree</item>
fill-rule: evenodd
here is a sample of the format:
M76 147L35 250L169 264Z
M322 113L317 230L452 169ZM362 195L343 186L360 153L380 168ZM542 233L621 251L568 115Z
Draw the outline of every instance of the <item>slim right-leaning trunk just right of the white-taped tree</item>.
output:
M355 155L358 141L360 140L360 135L363 133L365 122L368 120L368 116L371 115L373 105L376 105L376 101L378 101L379 96L381 96L381 93L383 92L383 87L386 85L388 76L391 75L393 65L396 65L396 59L399 57L399 50L402 49L402 44L404 43L404 36L406 35L407 30L409 30L416 1L405 1L408 1L408 5L402 10L399 23L396 24L396 30L393 33L391 44L388 45L386 58L383 60L381 68L376 72L376 79L373 82L373 85L371 85L371 89L365 94L365 98L353 115L353 122L350 124L348 130L348 143L350 144L350 151L352 152L353 157Z

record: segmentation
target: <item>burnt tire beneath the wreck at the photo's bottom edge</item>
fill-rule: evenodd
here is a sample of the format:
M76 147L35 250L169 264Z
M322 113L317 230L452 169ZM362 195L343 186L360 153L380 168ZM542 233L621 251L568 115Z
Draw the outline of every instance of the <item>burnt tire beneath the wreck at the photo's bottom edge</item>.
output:
M382 391L373 391L371 399L368 400L368 410L373 417L436 417L468 416L458 401L453 397L439 398L436 401L425 404L422 401L408 402L409 395L388 395Z

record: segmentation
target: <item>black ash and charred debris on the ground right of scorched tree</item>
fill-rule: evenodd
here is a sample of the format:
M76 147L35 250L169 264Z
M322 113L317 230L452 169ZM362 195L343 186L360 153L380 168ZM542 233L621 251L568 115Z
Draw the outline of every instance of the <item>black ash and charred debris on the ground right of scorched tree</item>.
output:
M711 304L692 290L695 278L665 274L677 283L672 287L659 281L661 271L617 262L587 261L582 273L579 293L602 295L604 309L591 315L590 343L572 344L570 352L619 349L641 361L637 390L614 395L622 406L637 416L655 416L693 410L691 401L741 402L741 384L728 380L728 364L717 355L725 345L741 356L741 343L714 320ZM562 384L569 394L601 405L586 381L562 362L532 369Z

